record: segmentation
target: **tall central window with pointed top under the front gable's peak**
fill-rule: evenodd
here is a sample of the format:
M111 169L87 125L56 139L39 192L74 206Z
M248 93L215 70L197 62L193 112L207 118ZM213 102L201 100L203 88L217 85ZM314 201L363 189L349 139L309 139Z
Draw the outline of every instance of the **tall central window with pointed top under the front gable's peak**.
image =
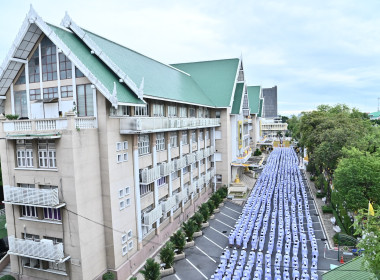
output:
M41 41L42 81L57 80L57 48L48 37Z

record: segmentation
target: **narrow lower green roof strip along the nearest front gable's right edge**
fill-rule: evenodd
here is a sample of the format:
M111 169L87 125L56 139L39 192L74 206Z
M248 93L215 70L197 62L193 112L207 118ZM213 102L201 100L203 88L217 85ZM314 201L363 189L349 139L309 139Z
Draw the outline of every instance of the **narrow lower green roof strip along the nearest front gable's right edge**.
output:
M71 52L87 67L87 69L102 83L112 94L114 83L116 84L118 102L131 104L144 104L142 100L124 84L119 83L119 78L73 33L60 27L48 24L53 32L66 44Z

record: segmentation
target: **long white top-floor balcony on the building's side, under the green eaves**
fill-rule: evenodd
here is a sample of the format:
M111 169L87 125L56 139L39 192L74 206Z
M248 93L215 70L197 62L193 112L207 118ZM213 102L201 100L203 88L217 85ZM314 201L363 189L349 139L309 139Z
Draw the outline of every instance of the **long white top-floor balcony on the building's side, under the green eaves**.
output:
M120 133L149 133L190 128L220 126L219 118L165 118L165 117L125 117L120 118Z

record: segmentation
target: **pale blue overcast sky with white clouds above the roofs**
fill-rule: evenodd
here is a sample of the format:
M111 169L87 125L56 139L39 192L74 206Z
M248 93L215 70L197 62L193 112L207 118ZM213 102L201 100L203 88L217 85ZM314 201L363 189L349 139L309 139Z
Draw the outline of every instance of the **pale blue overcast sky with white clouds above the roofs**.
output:
M30 3L164 63L243 57L250 85L278 86L288 115L319 104L377 110L380 1L0 0L0 61ZM0 63L1 63L0 62Z

